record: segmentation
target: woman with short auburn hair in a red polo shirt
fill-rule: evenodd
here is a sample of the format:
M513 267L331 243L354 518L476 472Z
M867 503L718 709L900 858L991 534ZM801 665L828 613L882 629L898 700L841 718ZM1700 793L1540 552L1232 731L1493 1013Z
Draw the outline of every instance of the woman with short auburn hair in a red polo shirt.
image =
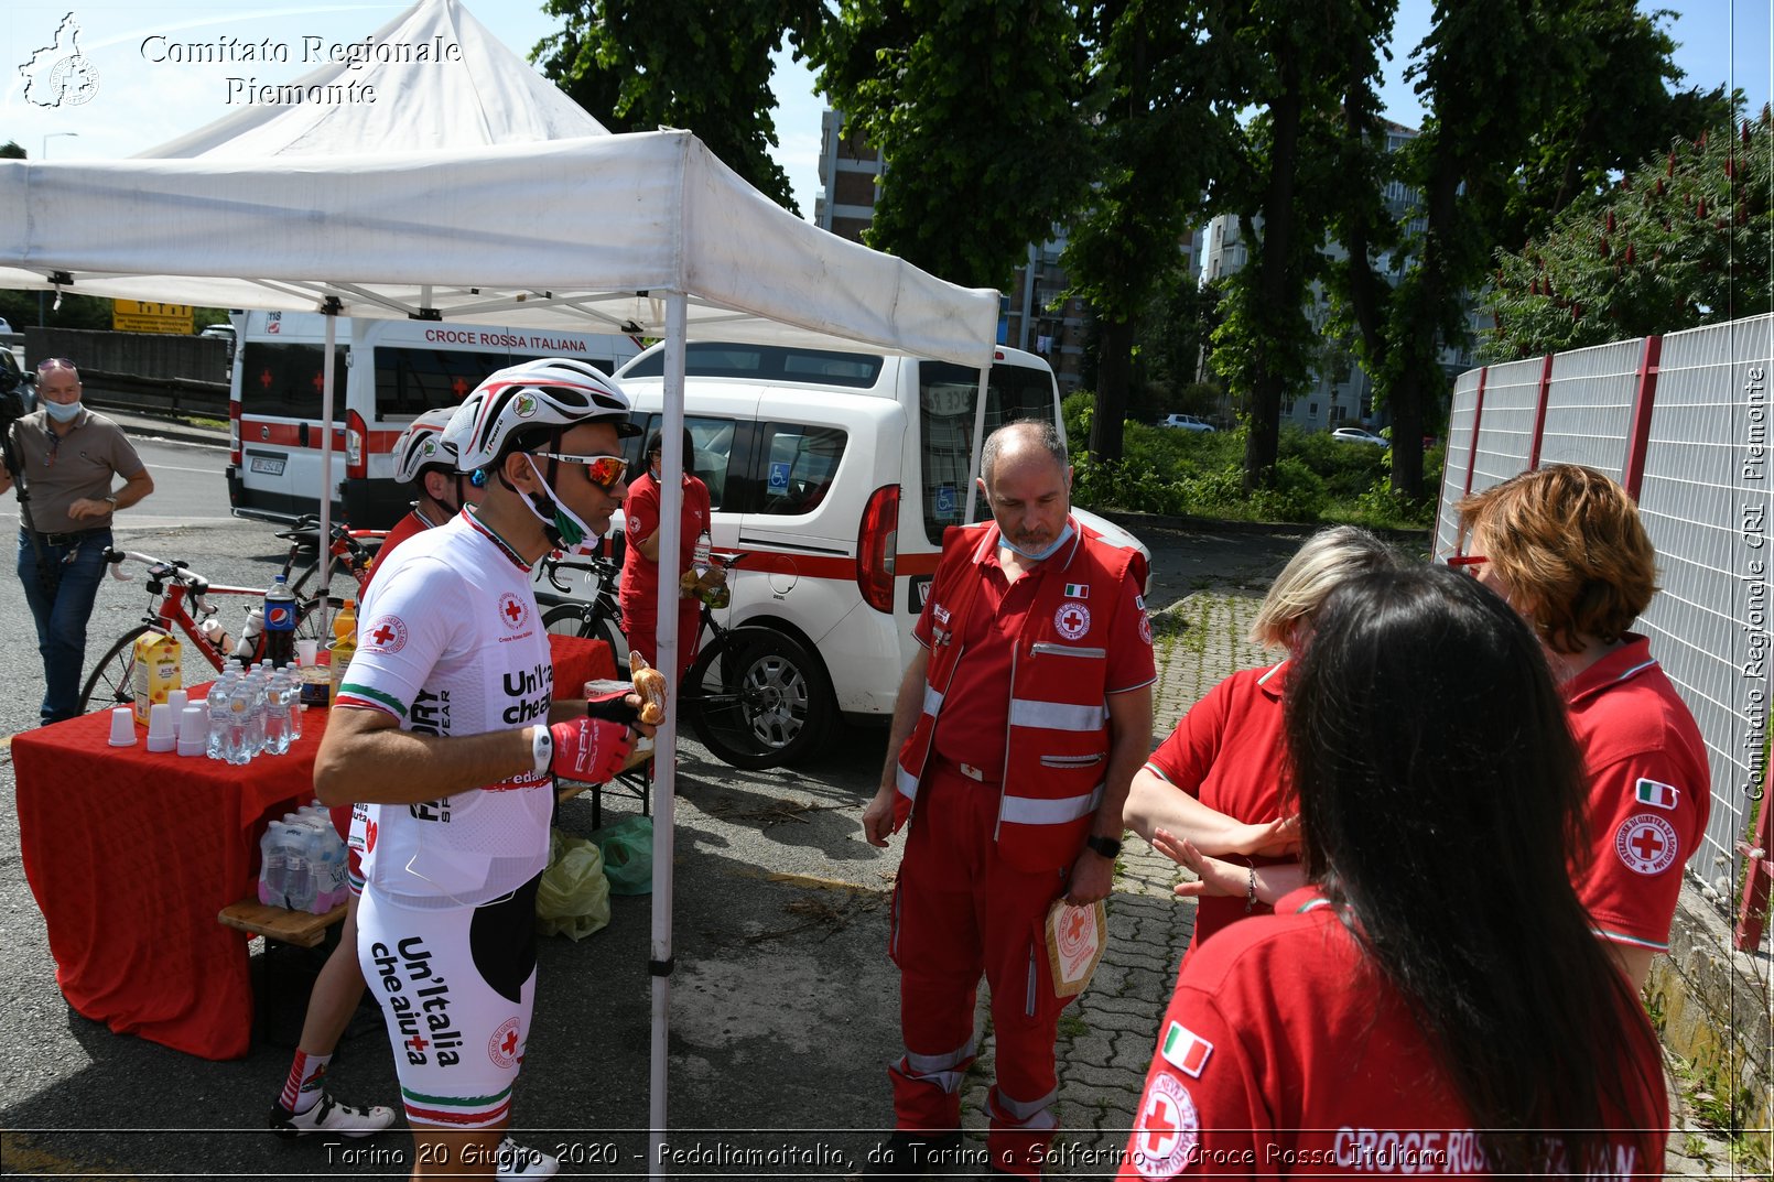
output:
M1590 777L1593 843L1572 864L1593 932L1634 985L1669 950L1682 866L1712 809L1707 744L1632 623L1657 593L1657 552L1609 476L1522 472L1460 502L1449 557L1540 637Z

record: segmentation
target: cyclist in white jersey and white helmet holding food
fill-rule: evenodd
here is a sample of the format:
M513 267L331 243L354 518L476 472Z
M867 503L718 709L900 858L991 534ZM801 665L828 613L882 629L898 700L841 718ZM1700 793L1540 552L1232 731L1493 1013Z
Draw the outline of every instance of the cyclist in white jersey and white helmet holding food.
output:
M500 369L451 419L477 509L376 575L314 763L326 804L364 802L358 962L383 1008L413 1175L493 1177L536 987L550 772L621 768L633 694L555 701L530 564L603 532L626 485L628 399L594 367ZM557 1162L538 1155L536 1171ZM511 1177L511 1170L506 1177Z

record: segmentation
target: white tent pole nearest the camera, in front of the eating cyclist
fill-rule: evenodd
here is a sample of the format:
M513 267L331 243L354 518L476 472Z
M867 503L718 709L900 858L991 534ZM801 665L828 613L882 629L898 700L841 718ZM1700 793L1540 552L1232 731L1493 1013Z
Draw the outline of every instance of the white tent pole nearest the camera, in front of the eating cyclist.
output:
M672 708L655 738L653 758L653 1058L648 1086L648 1173L667 1177L660 1148L665 1143L665 1060L671 1038L671 925L672 925L672 827L678 788L678 554L683 534L683 353L688 332L688 300L672 291L665 298L665 415L660 421L660 602L658 666L672 692Z

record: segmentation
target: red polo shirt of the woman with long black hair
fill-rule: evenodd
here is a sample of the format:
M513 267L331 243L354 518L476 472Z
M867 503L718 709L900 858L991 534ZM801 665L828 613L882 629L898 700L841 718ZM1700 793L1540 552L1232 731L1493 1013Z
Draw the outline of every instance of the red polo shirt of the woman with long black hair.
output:
M1629 1111L1605 1120L1653 1131L1650 1159L1625 1141L1614 1150L1623 1177L1657 1177L1669 1138L1662 1054L1637 1006L1623 1005L1620 1028L1620 1058L1595 1070L1621 1081ZM1119 1177L1485 1173L1471 1125L1403 997L1302 889L1183 964Z

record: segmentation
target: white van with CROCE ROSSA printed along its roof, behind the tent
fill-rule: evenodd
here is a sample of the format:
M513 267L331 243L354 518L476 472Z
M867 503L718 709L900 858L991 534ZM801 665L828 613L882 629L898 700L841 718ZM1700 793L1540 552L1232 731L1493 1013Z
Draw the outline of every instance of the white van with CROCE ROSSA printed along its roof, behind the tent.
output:
M326 319L236 312L229 392L229 504L289 522L319 511ZM389 529L410 493L390 449L424 410L459 403L486 374L534 357L577 357L612 373L639 346L623 335L493 328L431 319L339 319L334 362L334 518Z

